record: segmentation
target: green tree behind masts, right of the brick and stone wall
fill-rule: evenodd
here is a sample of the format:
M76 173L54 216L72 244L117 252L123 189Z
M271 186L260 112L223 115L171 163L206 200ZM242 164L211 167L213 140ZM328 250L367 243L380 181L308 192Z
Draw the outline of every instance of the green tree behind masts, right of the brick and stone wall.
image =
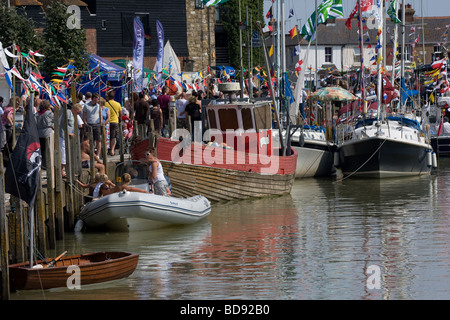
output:
M241 20L239 19L239 2L241 7ZM248 30L257 31L256 21L264 22L263 16L263 0L240 0L228 1L220 5L221 19L223 27L228 37L228 56L230 65L236 69L240 69L240 39L239 28L242 28L242 60L244 69L249 68L247 45L247 28ZM246 21L246 10L248 7L249 21ZM241 24L239 23L241 22ZM251 35L250 35L251 38ZM264 56L261 48L253 48L252 50L252 66L259 64L264 65Z

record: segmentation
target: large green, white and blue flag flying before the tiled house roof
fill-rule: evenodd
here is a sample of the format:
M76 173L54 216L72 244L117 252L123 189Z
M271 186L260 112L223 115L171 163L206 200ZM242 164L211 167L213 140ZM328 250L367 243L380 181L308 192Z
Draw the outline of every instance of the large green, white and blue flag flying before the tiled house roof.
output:
M326 23L327 19L339 18L344 16L342 0L324 0L317 7L318 19L317 25ZM316 37L316 11L312 13L300 33L307 41L312 41Z

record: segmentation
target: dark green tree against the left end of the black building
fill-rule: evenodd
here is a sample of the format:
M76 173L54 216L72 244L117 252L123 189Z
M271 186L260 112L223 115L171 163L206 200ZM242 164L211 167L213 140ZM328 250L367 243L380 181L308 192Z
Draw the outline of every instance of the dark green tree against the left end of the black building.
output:
M69 61L79 70L84 70L87 65L86 31L67 26L71 14L67 13L67 6L60 1L53 1L45 12L44 73L50 76L55 68L66 65Z

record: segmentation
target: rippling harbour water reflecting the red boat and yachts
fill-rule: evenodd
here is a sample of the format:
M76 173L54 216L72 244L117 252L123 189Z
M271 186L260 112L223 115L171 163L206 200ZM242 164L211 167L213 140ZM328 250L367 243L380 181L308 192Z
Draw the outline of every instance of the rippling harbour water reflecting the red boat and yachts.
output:
M450 299L450 159L431 176L296 180L190 226L66 234L55 256L140 254L128 278L15 300Z

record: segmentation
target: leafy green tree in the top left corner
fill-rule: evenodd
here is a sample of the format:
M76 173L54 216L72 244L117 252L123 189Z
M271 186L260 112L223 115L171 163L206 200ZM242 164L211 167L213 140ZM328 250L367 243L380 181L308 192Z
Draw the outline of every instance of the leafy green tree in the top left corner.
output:
M0 41L3 47L16 44L21 52L38 50L42 47L42 37L35 31L33 20L21 8L0 6Z

